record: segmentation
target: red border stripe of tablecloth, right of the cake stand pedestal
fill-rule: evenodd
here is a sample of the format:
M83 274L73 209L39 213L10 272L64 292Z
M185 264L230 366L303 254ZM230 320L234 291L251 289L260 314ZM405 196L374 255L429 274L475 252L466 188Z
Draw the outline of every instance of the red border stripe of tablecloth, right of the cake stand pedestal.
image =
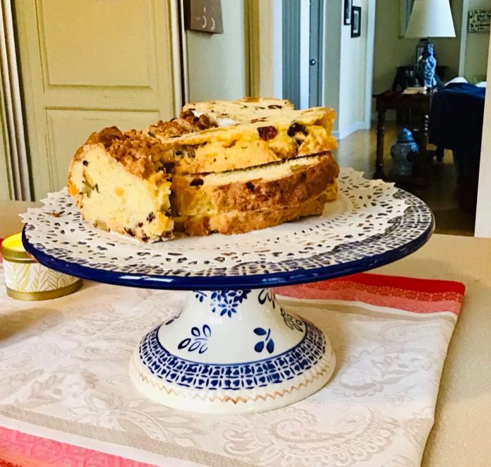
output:
M275 289L279 295L310 300L359 301L413 313L449 311L459 315L465 286L454 281L355 274Z

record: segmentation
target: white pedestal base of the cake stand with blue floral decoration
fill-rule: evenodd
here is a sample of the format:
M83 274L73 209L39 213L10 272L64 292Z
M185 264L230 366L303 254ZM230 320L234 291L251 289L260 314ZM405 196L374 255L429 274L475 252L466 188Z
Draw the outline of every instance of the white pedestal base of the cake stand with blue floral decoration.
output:
M310 396L335 364L325 334L281 308L271 289L193 291L140 341L130 377L165 406L254 413Z

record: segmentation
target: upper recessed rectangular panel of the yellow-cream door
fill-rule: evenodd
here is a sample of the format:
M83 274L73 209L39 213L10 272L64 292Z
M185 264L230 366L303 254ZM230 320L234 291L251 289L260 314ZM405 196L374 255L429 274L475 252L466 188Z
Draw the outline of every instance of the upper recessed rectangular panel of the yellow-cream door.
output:
M109 18L116 3L124 14L114 21ZM154 88L151 6L146 1L38 0L38 35L46 46L41 49L44 85ZM112 40L116 37L123 40Z

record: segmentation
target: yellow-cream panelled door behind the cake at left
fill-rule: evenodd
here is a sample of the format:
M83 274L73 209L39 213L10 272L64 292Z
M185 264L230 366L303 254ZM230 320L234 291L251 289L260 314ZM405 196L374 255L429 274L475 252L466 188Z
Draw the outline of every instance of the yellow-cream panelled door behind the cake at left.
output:
M175 0L19 0L35 198L66 184L92 131L145 128L181 104ZM176 28L174 28L176 25ZM174 49L174 50L173 50ZM176 92L178 90L178 92Z

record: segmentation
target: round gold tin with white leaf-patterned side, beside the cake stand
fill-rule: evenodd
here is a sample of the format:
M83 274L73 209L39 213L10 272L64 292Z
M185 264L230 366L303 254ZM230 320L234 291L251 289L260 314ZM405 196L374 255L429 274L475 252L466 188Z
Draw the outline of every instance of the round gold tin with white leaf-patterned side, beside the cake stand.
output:
M80 289L82 280L54 271L37 262L23 247L21 233L2 242L7 294L18 300L48 300Z

